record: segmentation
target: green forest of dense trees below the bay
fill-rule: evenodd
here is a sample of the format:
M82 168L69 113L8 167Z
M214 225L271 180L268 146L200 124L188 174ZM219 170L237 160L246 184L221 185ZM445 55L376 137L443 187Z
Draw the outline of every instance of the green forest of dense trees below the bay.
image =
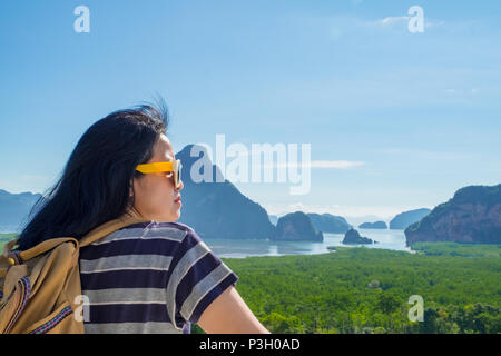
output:
M12 236L0 234L0 248ZM272 333L501 333L501 245L412 249L336 246L323 255L222 259ZM422 322L409 318L414 295L423 298Z

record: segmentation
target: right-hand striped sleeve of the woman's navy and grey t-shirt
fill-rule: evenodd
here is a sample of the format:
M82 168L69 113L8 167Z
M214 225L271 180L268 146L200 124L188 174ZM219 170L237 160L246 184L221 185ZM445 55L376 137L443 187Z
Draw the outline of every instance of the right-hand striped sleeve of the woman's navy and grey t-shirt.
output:
M193 229L174 253L169 273L167 310L178 328L187 322L196 324L210 303L238 280Z

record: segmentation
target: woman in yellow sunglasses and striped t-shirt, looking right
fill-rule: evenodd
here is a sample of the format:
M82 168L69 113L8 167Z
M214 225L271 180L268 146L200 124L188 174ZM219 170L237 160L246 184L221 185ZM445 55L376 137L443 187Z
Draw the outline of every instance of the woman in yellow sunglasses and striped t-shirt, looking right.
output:
M190 333L191 323L206 333L269 333L236 291L238 276L190 227L174 222L183 181L167 126L165 105L94 123L33 207L19 249L141 218L80 250L86 333Z

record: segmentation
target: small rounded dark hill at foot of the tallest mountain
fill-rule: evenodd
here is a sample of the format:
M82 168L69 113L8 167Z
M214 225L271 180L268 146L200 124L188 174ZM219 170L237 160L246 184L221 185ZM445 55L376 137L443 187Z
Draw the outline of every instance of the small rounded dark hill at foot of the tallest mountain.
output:
M322 231L316 231L313 227L312 220L303 211L287 214L278 219L276 224L276 231L272 238L273 240L307 240L318 241L324 240Z

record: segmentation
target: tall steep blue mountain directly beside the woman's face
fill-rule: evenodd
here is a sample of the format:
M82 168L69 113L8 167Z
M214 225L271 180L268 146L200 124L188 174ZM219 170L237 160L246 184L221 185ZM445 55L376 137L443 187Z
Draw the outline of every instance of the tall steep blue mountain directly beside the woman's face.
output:
M191 152L196 154L195 157ZM219 168L213 165L204 147L188 145L177 152L176 158L183 162L184 182L179 222L193 227L200 237L272 238L275 226L266 210L245 197L230 181L223 179ZM206 181L202 177L206 177Z

